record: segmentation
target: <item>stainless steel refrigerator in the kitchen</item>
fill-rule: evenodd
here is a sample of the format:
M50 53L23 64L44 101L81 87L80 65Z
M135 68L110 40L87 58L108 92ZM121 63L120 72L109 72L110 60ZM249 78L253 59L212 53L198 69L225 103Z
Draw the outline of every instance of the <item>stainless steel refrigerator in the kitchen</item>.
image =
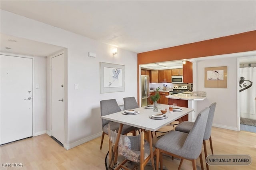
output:
M149 76L141 75L140 76L140 86L141 86L141 107L147 106L149 98Z

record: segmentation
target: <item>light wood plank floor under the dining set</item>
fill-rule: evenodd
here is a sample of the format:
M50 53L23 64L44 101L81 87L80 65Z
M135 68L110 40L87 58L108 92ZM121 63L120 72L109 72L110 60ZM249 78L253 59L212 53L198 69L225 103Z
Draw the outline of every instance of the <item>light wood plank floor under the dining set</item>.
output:
M157 133L158 136L160 134ZM104 139L102 150L100 150L100 139L100 137L96 138L70 150L65 150L47 134L6 144L0 146L0 169L104 170L104 159L108 152L108 136ZM157 138L154 136L153 141L156 142L156 140ZM212 142L214 154L249 154L252 156L252 164L250 166L210 166L210 170L255 170L256 134L213 127ZM210 154L209 142L207 142L207 146L208 154ZM23 167L4 167L7 163L11 165L12 163L21 163ZM179 163L179 160L175 159L164 160L163 162L168 170L177 170ZM200 165L199 159L197 164ZM182 170L191 169L192 163L185 160L182 164ZM206 169L205 164L204 169Z

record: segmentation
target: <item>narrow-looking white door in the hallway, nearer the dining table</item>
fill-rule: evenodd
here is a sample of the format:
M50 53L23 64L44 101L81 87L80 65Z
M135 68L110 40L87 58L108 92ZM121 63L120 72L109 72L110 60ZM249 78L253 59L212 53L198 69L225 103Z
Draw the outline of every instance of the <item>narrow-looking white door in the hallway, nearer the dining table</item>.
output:
M52 136L64 144L64 54L55 56L52 61Z

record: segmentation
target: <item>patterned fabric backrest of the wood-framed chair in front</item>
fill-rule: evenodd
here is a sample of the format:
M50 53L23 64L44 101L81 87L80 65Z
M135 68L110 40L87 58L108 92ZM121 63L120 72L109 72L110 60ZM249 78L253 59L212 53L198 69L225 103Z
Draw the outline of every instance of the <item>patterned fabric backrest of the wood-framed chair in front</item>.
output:
M108 124L108 136L111 143L116 142L117 133L111 130L111 122ZM137 136L120 134L118 142L118 154L133 162L144 162L144 132Z

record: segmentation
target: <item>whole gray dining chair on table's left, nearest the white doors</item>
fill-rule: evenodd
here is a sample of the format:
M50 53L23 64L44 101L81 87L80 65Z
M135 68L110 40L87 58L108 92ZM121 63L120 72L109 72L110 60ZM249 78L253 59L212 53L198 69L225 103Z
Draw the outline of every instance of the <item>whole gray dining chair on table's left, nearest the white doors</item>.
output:
M108 114L120 112L121 109L118 106L116 99L109 99L109 100L101 100L100 101L100 114L101 116L105 116ZM102 137L101 137L101 143L100 143L100 149L102 148L104 135L108 135L108 123L111 122L110 120L101 119L102 122ZM112 130L117 130L119 128L118 122L113 122L113 125L111 126ZM133 126L125 125L122 128L121 134L127 134L129 132L132 132L133 135L135 135L135 128Z

